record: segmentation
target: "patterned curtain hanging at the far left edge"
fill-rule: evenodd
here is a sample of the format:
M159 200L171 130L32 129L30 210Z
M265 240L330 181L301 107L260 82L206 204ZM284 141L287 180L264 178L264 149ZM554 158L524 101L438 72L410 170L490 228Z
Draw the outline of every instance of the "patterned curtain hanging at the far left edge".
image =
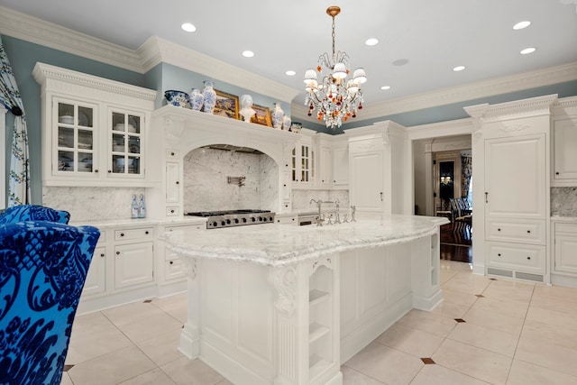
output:
M14 115L12 133L12 157L10 159L10 182L8 206L30 203L30 166L28 164L28 132L24 106L16 86L16 79L0 38L0 104Z

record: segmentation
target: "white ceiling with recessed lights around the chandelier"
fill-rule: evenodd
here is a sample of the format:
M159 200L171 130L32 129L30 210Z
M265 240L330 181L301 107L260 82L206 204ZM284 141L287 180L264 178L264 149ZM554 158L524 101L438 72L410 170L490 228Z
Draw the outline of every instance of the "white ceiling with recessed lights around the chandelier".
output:
M363 67L365 105L577 61L577 0L0 0L16 11L138 49L153 35L302 90L335 49ZM531 25L514 31L513 25ZM196 32L184 32L193 23ZM377 38L376 46L364 41ZM535 47L531 54L520 50ZM255 55L245 58L243 50ZM455 66L466 69L454 72ZM287 70L296 71L289 77ZM389 86L389 90L380 87ZM304 91L293 103L304 103Z

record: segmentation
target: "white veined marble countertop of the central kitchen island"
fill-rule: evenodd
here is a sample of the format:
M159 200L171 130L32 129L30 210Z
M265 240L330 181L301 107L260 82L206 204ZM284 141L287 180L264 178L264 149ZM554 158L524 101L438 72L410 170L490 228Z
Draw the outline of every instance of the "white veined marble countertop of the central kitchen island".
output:
M174 231L166 245L184 257L284 266L332 252L410 242L447 223L443 217L388 215L340 225L249 225L207 230L202 237Z

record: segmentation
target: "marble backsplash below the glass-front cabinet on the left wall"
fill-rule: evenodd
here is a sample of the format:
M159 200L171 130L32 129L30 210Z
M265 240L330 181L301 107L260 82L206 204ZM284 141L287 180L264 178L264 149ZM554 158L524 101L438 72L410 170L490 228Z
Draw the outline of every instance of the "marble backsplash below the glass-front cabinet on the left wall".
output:
M133 194L145 188L42 188L42 205L66 210L73 222L126 219L131 215Z

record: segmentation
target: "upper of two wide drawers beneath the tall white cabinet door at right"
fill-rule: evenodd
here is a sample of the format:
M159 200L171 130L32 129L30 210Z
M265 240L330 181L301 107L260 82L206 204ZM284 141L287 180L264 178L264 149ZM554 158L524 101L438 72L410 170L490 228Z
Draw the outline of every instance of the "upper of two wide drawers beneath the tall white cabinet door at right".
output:
M487 221L485 238L490 241L545 244L545 221L490 219Z

